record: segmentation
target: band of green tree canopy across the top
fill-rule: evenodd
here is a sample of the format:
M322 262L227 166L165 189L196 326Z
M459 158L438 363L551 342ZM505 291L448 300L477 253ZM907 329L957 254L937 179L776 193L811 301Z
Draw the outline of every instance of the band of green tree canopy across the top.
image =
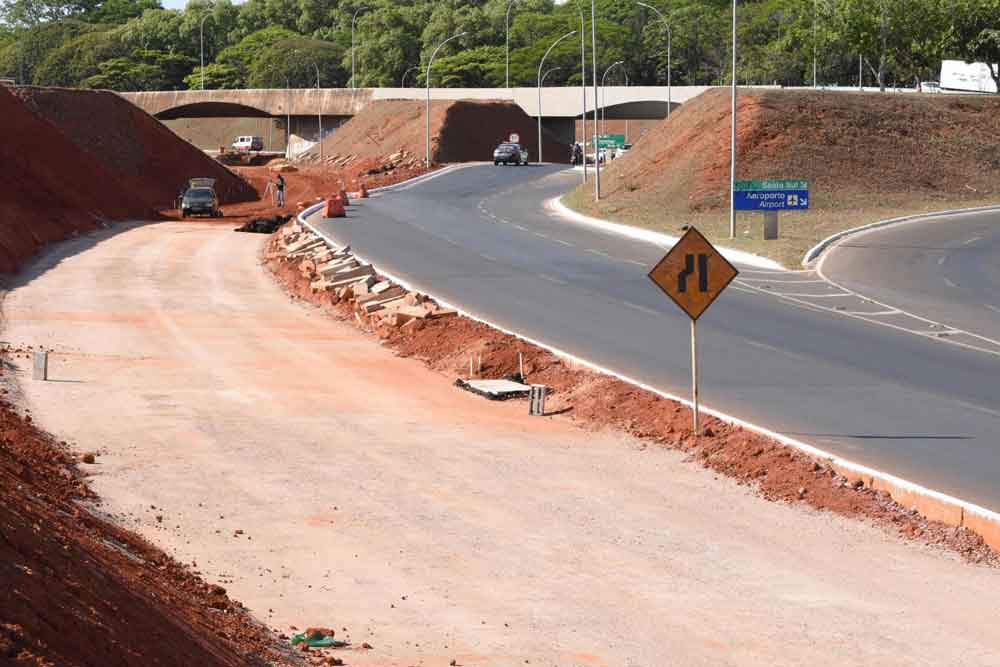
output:
M729 80L729 0L596 0L598 78L624 61L637 85ZM740 83L912 85L936 79L944 59L991 65L1000 83L1000 0L741 0ZM506 30L507 17L510 30ZM356 18L355 18L356 16ZM39 85L116 90L200 87L534 85L556 39L586 35L584 0L0 0L0 76ZM352 43L352 24L353 43ZM669 26L669 29L668 29ZM579 37L546 61L548 85L580 82ZM308 70L311 70L310 74ZM588 79L590 74L588 73ZM609 75L609 77L612 75ZM616 74L615 76L620 76Z

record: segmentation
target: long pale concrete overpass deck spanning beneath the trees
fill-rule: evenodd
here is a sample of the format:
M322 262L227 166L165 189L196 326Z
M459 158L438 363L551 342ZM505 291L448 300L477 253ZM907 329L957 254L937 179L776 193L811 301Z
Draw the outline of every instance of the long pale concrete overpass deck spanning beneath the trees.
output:
M681 104L701 94L706 86L673 86L671 101ZM587 109L593 111L593 89L587 90ZM249 90L182 90L122 93L136 106L160 118L353 116L375 100L423 100L424 88L294 88ZM608 118L662 118L667 109L666 86L606 86L599 108ZM514 102L529 116L538 115L536 88L432 88L434 100L504 100ZM578 87L542 88L544 118L578 118L583 108Z

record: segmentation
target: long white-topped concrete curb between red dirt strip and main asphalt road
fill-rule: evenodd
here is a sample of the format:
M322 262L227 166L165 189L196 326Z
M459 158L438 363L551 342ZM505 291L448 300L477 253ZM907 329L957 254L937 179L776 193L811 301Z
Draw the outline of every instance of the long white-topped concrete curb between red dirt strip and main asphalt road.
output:
M322 207L323 207L322 203L310 206L309 208L303 210L297 216L297 219L300 224L310 229L317 236L323 238L330 245L335 247L341 247L343 245L342 243L338 242L336 239L332 238L328 234L325 234L323 231L313 226L312 223L310 223L307 220L309 216L319 212L322 209ZM427 294L428 296L430 296L431 298L433 298L435 301L445 306L446 308L452 308L458 311L459 314L468 317L469 319L475 320L476 322L485 324L489 327L492 327L493 329L496 329L497 331L501 331L505 334L523 340L527 343L548 350L549 352L558 357L561 357L570 362L589 368L595 372L601 373L602 375L607 375L610 377L617 378L623 382L631 384L634 387L638 387L639 389L652 392L657 396L660 396L662 398L671 401L676 401L682 405L686 405L688 407L692 406L691 401L687 398L684 398L683 396L678 396L666 391L662 391L653 386L640 382L639 380L631 378L627 375L622 375L621 373L617 373L609 368L605 368L603 366L595 364L581 357L577 357L576 355L566 352L565 350L554 347L542 341L536 340L517 331L507 329L485 317L477 315L476 313L462 307L459 304L450 303L444 299L435 296L433 292L424 289L420 285L415 285L412 282L399 277L398 275L380 269L377 265L368 262L368 260L361 257L360 255L355 254L355 257L357 257L357 259L360 261L371 264L372 267L375 269L375 271L377 271L380 275L385 276L389 280L402 286L404 289L410 291L418 291L423 294ZM960 498L956 498L954 496L941 493L940 491L929 489L927 487L921 486L914 482L910 482L909 480L905 480L900 477L896 477L895 475L891 475L881 470L876 470L875 468L870 468L860 463L855 463L854 461L840 458L830 452L819 449L818 447L810 445L806 442L802 442L801 440L790 438L786 435L782 435L781 433L777 433L763 426L759 426L752 422L745 421L743 419L740 419L739 417L734 417L732 415L721 412L704 404L701 404L699 406L699 409L701 410L702 413L711 415L721 421L732 424L734 426L739 426L748 431L752 431L759 435L771 438L772 440L780 442L781 444L786 445L788 447L793 447L794 449L809 454L810 456L813 456L817 459L825 460L839 474L847 477L849 480L851 481L861 480L866 485L870 486L873 489L886 491L894 500L896 500L896 502L903 505L904 507L909 507L911 509L920 512L928 519L941 521L946 525L954 527L969 528L970 530L973 530L978 535L980 535L983 538L983 540L993 549L1000 551L1000 513L993 512L992 510L988 510L985 507L976 505L975 503L971 503L966 500L962 500Z

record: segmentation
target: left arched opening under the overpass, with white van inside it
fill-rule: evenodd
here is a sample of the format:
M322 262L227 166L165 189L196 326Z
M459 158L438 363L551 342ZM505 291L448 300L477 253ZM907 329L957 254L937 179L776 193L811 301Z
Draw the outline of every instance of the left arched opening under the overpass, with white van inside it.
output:
M319 140L320 118L316 115L271 115L255 107L229 102L200 102L174 107L156 114L164 125L185 141L205 151L229 148L238 136L264 140L264 150L284 153L289 141L292 154L308 150ZM329 136L350 116L322 116L323 136ZM290 132L289 132L290 129Z

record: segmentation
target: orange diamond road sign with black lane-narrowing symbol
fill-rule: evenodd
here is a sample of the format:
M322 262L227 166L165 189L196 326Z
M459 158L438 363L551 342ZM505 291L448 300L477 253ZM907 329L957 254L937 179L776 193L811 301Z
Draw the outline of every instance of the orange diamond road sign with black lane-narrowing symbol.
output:
M694 227L649 272L649 279L697 320L739 274Z

